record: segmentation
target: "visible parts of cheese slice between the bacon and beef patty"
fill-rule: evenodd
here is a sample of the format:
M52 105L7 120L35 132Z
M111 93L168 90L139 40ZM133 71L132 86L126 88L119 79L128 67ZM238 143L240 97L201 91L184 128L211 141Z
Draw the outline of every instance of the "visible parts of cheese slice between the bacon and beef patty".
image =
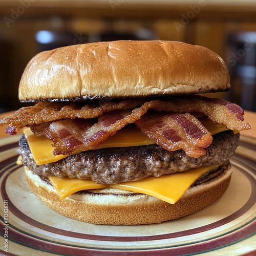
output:
M206 129L211 134L217 134L226 131L226 127L222 124L215 124L212 122L202 122ZM24 129L24 134L29 143L29 147L36 164L47 164L56 162L68 155L53 155L52 141L46 137L35 136L29 128ZM135 125L126 125L119 130L115 135L110 136L108 139L103 141L95 149L103 147L122 147L122 146L141 146L154 144L155 141L148 139L144 136ZM75 152L74 154L79 153Z

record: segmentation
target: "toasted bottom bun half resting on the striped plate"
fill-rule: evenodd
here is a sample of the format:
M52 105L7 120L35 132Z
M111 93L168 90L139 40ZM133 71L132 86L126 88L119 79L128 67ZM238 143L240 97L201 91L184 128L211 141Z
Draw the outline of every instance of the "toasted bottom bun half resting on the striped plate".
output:
M225 166L220 175L191 186L177 203L169 204L152 196L114 188L84 190L61 200L51 184L25 170L29 186L50 208L75 220L105 225L153 224L193 214L225 193L232 173Z

